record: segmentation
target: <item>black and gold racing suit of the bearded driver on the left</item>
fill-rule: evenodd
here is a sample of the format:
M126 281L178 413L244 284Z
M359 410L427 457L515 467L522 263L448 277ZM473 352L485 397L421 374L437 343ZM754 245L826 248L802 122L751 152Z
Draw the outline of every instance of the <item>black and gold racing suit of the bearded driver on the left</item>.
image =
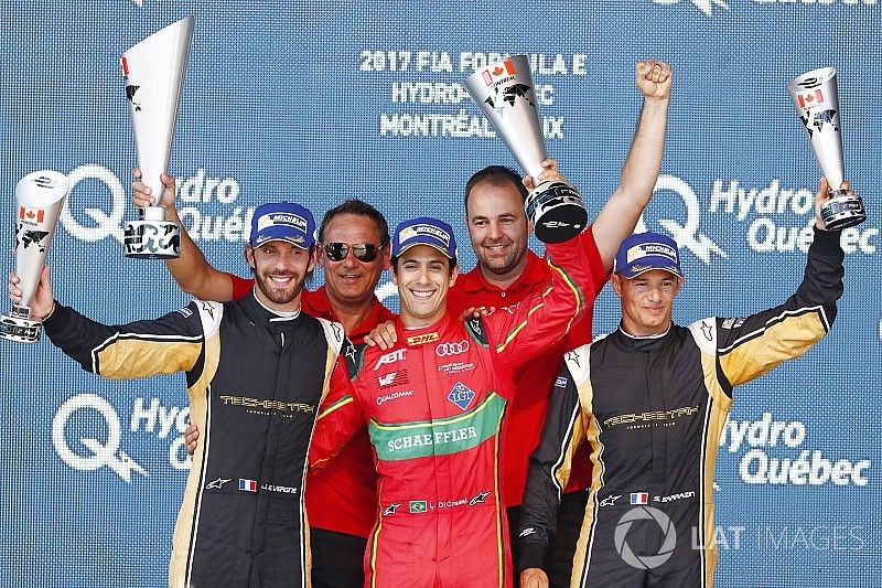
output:
M56 303L44 325L55 345L105 377L186 372L200 442L174 530L171 587L309 586L304 460L332 374L348 381L337 363L340 324L279 317L249 293L121 327Z

